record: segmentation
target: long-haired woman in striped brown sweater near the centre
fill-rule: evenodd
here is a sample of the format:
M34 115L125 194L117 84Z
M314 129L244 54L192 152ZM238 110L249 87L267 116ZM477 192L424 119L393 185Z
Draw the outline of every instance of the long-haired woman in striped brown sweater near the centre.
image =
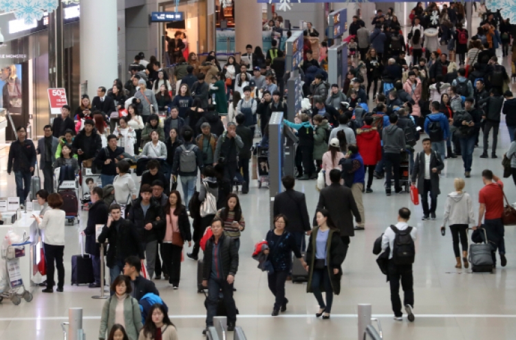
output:
M217 211L215 216L224 222L224 234L235 240L237 249L240 249L240 234L246 228L246 220L240 207L240 200L237 194L228 194L226 205Z

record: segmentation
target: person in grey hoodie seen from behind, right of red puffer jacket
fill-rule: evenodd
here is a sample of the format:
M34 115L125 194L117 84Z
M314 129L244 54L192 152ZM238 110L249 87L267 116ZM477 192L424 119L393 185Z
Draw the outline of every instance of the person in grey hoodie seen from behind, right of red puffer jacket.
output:
M391 196L391 177L394 172L394 190L396 194L402 191L400 188L400 163L401 152L405 150L405 131L398 127L398 114L393 113L389 116L391 125L383 128L382 141L385 152L385 194Z

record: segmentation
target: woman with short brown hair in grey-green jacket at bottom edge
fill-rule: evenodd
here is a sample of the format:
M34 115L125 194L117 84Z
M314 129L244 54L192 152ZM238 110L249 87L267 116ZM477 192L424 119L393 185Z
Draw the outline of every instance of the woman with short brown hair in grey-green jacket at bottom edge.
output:
M102 308L98 339L104 340L106 331L111 330L114 324L120 324L125 328L129 340L137 340L142 329L142 314L138 300L131 297L131 278L118 275L111 284L111 291L115 293L106 300Z

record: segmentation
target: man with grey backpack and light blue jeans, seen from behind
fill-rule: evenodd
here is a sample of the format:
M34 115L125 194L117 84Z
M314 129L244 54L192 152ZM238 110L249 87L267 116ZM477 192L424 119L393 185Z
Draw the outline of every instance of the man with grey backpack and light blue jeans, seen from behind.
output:
M188 207L195 191L195 183L197 183L197 168L202 172L204 162L200 148L193 143L193 130L186 126L181 135L184 144L175 149L172 174L175 176L179 174L181 177L183 202L184 206ZM215 158L213 160L215 161ZM188 210L188 208L186 209Z

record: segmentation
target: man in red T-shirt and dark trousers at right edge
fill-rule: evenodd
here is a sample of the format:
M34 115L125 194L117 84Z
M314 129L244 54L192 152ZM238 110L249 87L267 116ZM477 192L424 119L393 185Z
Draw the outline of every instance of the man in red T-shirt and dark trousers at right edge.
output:
M487 240L495 245L495 250L491 251L493 268L496 268L496 248L498 248L498 253L500 254L500 264L502 264L502 267L505 267L507 264L504 240L505 227L504 223L502 223L504 183L491 170L482 171L482 181L484 182L484 188L480 189L478 193L478 203L480 203L478 208L478 225L473 227L473 230L482 227L486 229ZM483 225L482 218L484 218Z

